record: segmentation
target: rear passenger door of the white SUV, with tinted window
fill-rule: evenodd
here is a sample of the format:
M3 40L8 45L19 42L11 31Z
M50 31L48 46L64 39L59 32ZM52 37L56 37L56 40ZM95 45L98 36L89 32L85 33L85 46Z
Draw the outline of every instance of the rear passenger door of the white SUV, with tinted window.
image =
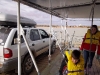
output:
M36 56L41 54L41 49L43 48L43 41L40 38L38 29L30 30L30 40L31 40L31 49L35 50Z

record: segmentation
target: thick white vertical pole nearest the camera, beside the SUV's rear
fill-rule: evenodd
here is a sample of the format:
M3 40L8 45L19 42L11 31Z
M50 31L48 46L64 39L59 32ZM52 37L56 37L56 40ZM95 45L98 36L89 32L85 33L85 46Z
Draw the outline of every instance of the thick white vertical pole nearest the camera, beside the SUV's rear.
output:
M18 0L18 12L17 12L17 31L18 31L18 75L21 75L21 40L20 40L20 0Z

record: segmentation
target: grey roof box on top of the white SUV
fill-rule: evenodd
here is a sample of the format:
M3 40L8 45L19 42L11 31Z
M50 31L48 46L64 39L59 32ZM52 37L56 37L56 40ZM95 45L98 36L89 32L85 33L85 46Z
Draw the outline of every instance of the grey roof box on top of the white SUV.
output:
M22 26L36 27L36 22L29 18L20 17L20 22ZM0 13L0 25L6 27L17 27L17 16Z

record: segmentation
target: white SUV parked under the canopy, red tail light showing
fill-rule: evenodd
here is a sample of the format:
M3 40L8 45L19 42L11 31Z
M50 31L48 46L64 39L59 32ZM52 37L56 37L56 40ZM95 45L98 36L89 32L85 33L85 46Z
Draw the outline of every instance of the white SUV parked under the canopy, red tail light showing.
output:
M16 22L0 21L0 25L4 26L0 29L0 73L8 72L17 69L18 65L18 47L16 43L17 28ZM28 23L22 23L23 26L28 26ZM31 23L32 24L32 23ZM35 25L35 24L33 24ZM49 35L43 29L31 27L24 27L25 37L29 44L33 55L38 55L48 51L49 49ZM55 39L51 38L51 52L56 48ZM21 36L21 63L24 73L32 72L34 65L28 53L26 44ZM28 66L27 64L30 66Z

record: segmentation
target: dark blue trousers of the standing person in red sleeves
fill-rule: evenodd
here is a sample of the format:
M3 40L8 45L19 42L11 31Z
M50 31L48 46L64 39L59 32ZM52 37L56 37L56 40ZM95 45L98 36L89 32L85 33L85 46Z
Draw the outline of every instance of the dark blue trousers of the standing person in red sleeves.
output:
M88 68L92 67L94 55L95 55L95 52L90 52L90 51L87 51L87 50L83 51L83 56L84 56L84 60L85 60L84 68L86 68L87 66L88 66Z

